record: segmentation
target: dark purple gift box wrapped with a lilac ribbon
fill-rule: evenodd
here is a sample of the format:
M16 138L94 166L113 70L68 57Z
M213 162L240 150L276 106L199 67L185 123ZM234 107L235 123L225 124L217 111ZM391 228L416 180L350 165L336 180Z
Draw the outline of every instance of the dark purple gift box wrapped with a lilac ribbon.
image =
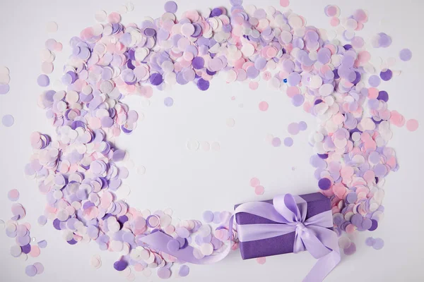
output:
M319 192L300 195L303 200L307 202L306 219L312 216L331 210L331 201L326 196ZM273 200L262 201L269 204ZM235 205L235 208L240 204ZM261 216L247 214L241 212L235 216L237 224L266 224L276 223L269 219L264 219ZM240 252L242 259L253 259L255 257L269 257L272 255L281 255L293 252L293 245L295 242L295 232L280 235L273 238L254 240L249 242L240 242Z

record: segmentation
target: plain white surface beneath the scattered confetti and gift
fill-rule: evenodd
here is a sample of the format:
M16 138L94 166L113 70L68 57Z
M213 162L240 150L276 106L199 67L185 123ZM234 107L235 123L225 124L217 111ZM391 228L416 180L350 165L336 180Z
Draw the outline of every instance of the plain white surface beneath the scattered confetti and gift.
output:
M290 8L307 18L309 25L330 28L324 15L327 0L292 0ZM1 0L0 3L0 65L11 71L11 92L0 96L0 116L12 114L15 125L0 125L0 219L11 217L11 202L7 192L20 191L20 203L27 210L25 221L33 228L36 240L47 240L40 257L27 262L9 255L13 239L0 233L1 281L125 281L112 263L117 255L100 252L97 244L68 245L55 231L51 222L40 227L37 217L43 213L45 197L37 191L34 180L26 179L23 167L32 149L29 135L37 130L54 133L45 113L37 107L42 89L37 86L40 74L40 51L46 39L52 37L64 44L64 51L57 54L52 80L61 75L66 56L71 53L69 39L95 23L95 11L116 11L121 0ZM165 0L134 1L135 10L123 16L124 23L141 23L144 16L156 18L163 13ZM178 15L192 8L229 6L227 0L189 1L179 0ZM385 219L377 231L360 233L353 238L358 251L349 257L343 255L341 264L326 281L423 281L423 183L422 169L424 149L423 90L422 85L422 27L416 25L422 19L424 1L420 0L333 0L341 8L341 16L349 16L355 8L369 12L370 20L365 30L358 32L370 42L371 35L387 32L393 44L387 49L373 49L372 54L387 59L398 58L399 51L410 48L413 59L408 63L398 60L393 69L403 71L400 77L384 82L382 88L389 92L389 107L408 118L417 118L421 128L410 133L406 128L394 128L390 145L396 149L401 169L391 173L385 185ZM279 7L278 0L245 0L264 8ZM46 23L59 23L59 32L48 35ZM167 108L163 99L171 96L174 106ZM235 101L230 97L235 96ZM205 209L230 210L232 204L246 200L270 199L276 193L301 194L317 190L313 168L309 164L312 148L307 136L314 130L311 116L290 104L281 92L269 90L261 83L252 91L246 84L226 85L222 79L214 79L208 92L200 92L195 85L174 87L169 92L155 90L151 106L143 106L140 97L125 102L145 115L134 134L119 137L117 145L128 149L136 166L145 166L146 174L131 170L126 184L131 186L128 202L139 209L165 209L172 207L174 216L180 219L200 219ZM269 111L258 109L260 101L269 103ZM227 118L235 119L235 127L225 125ZM307 121L307 133L295 136L295 145L272 147L265 141L267 134L288 136L287 125ZM191 152L187 140L218 141L219 152ZM295 170L292 171L292 167ZM265 194L254 194L249 186L252 177L261 180ZM383 238L382 250L367 247L368 236ZM102 256L103 266L94 270L90 257ZM34 262L45 265L45 273L35 277L25 276L25 266ZM240 254L232 254L211 266L190 266L191 272L184 281L301 281L315 260L307 252L269 257L266 264L255 260L242 261ZM177 269L177 268L176 268ZM155 274L146 278L137 274L136 281L158 281ZM182 280L182 279L181 279Z

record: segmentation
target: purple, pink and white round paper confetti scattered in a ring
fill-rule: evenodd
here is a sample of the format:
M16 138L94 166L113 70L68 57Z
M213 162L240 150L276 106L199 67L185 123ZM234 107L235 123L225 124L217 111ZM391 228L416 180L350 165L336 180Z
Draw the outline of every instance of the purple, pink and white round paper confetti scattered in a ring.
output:
M122 23L120 13L98 11L98 23L69 41L69 63L63 68L58 87L63 90L46 88L40 95L40 106L52 121L56 135L30 135L35 152L25 166L25 174L37 178L40 192L47 197L45 215L37 221L45 225L48 217L69 245L90 239L100 250L121 253L114 269L129 280L134 279L131 269L150 276L150 268L156 268L160 278L169 278L175 271L170 268L175 261L165 253L131 248L134 240L138 240L137 235L162 228L176 237L170 248L176 250L190 241L196 245L194 255L200 259L213 255L228 238L225 228L213 230L206 223L227 226L228 216L207 211L203 214L206 223L174 223L172 212L139 212L122 200L122 195L129 194L128 186L123 184L129 174L129 157L112 140L122 133L131 133L142 120L141 114L123 103L126 96L139 95L141 104L147 107L153 90L191 83L200 91L207 91L213 78L221 73L226 82L246 82L251 90L258 89L260 78L269 87L282 90L293 106L302 106L320 121L317 130L310 130L309 143L314 150L310 164L315 168L317 188L332 199L334 229L338 233L373 231L378 227L384 216L381 185L390 171L399 168L394 150L387 147L392 135L390 125L406 123L408 130L418 128L418 122L406 122L398 112L389 111L389 94L377 89L397 74L389 63L384 63L387 66L382 69L372 66L364 39L355 34L367 23L365 11L358 9L341 19L337 6L326 6L324 13L331 18L331 25L338 26L338 35L317 32L302 16L289 10L282 15L272 7L246 7L248 14L253 15L246 21L242 1L230 3L235 8L213 8L206 13L192 9L184 13L185 19L179 19L175 16L177 4L167 1L165 13L158 20L147 18L128 25ZM280 4L286 7L289 1ZM133 4L119 8L122 13L132 10ZM252 19L258 23L250 23ZM341 41L349 43L341 45ZM380 32L372 37L371 44L387 48L391 37ZM45 42L41 52L42 74L37 78L40 87L50 85L47 75L54 71L55 52L61 49L54 39ZM404 50L399 57L402 61L411 59ZM380 60L378 67L382 64ZM0 68L0 74L0 82L10 80L6 68ZM0 94L8 91L8 85L0 83ZM172 106L174 99L177 97L165 97L164 106ZM242 108L243 104L239 106ZM258 107L259 111L267 111L269 104L259 100ZM230 127L235 125L232 118L226 123ZM290 135L303 130L307 130L305 122L288 126ZM292 137L282 141L270 135L266 140L274 147L281 146L281 142L286 147L293 146ZM189 140L186 147L191 151L201 147L217 152L220 143ZM146 168L138 166L137 171L145 173ZM257 195L264 194L257 178L252 178L250 185ZM11 211L13 220L25 217L21 204L13 203ZM90 225L86 226L88 221ZM73 233L80 229L83 234ZM110 238L105 235L107 232L119 232L122 236ZM44 243L30 245L29 233L23 224L6 224L6 235L16 238L23 254L37 257ZM341 239L339 244L346 255L356 250L350 240ZM379 248L382 243L375 239L372 246ZM233 248L236 247L234 244ZM144 264L132 266L138 259L143 259L149 269ZM260 258L259 262L262 259L265 261ZM97 268L100 257L90 263ZM38 271L35 266L27 266L25 272L34 276ZM188 273L188 266L180 266L179 276Z

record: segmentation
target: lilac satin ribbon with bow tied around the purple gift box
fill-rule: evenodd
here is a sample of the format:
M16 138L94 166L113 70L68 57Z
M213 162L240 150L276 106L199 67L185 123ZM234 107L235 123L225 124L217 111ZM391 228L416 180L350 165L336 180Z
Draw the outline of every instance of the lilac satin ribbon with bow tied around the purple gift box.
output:
M337 235L329 229L333 227L331 210L306 219L307 202L302 197L290 194L278 195L273 198L273 204L266 202L240 204L230 219L230 231L232 231L234 216L241 212L261 216L276 223L236 224L240 242L263 240L295 232L293 252L307 250L314 258L318 259L309 274L303 279L304 282L323 281L340 262ZM172 239L170 235L155 232L140 240L155 250L160 250L192 264L219 262L231 250L229 245L217 255L196 259L193 255L194 247L191 246L177 251L168 250L167 243Z

